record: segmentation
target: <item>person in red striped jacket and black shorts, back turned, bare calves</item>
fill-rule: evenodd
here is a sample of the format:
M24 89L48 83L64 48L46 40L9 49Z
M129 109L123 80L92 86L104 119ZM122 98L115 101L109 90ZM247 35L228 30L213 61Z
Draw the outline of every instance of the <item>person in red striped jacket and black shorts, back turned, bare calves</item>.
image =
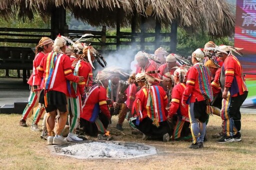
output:
M37 70L38 75L43 77L41 84L43 91L40 94L39 103L44 104L47 113L47 144L59 145L66 143L66 140L61 136L61 132L67 121L66 96L70 96L67 86L69 81L78 83L83 81L84 78L72 74L70 58L64 54L66 49L65 39L58 35L53 45L53 52L42 58ZM57 129L54 136L53 129L57 110L60 116L56 121Z

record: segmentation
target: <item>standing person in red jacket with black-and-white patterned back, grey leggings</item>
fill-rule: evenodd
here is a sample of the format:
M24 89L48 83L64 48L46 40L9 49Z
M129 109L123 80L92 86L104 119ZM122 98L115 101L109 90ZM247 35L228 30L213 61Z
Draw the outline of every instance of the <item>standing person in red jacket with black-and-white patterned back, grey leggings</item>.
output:
M186 104L189 104L188 113L192 134L190 149L203 148L205 121L208 117L206 109L213 99L210 73L207 67L202 64L203 59L204 53L201 49L198 48L192 53L193 66L187 71L186 87L182 97L182 106L186 107Z

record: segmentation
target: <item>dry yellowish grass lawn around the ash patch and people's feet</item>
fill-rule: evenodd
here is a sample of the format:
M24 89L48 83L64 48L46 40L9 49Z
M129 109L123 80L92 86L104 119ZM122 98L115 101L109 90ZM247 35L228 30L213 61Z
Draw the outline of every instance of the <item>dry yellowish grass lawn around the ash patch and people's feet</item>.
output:
M18 125L20 115L0 115L0 169L2 170L252 170L256 169L256 115L242 115L242 141L217 144L211 136L220 131L221 120L211 116L204 148L191 150L188 142L142 141L130 135L125 122L123 134L110 127L116 141L145 143L157 154L129 160L77 160L49 154L39 132ZM116 124L114 117L112 126ZM31 124L31 120L27 120ZM39 123L41 124L41 122ZM40 126L39 126L40 127ZM95 138L90 138L95 139ZM96 139L95 139L96 140Z

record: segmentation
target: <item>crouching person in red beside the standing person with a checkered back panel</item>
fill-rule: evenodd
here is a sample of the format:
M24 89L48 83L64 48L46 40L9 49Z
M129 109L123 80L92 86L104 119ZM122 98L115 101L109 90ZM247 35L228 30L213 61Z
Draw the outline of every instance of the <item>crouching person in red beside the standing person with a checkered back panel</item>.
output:
M170 120L173 133L172 140L191 140L191 132L189 129L188 105L182 107L181 100L186 87L187 70L177 68L173 73L175 86L172 89L170 108L168 119Z

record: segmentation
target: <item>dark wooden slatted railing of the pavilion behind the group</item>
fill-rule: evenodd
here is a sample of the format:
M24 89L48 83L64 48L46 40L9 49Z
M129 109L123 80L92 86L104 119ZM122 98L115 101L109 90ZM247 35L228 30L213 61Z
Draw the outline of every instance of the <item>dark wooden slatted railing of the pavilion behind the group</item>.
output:
M8 76L9 69L23 70L23 81L27 78L27 73L32 69L32 60L34 48L42 36L54 39L56 35L52 35L52 29L37 28L2 28L0 27L0 69L5 69ZM116 36L107 36L106 27L102 27L101 31L90 30L66 30L65 36L69 36L74 41L85 33L91 33L94 36L89 40L92 46L100 51L112 52L116 50L135 51L148 48L147 52L153 51L159 46L169 46L170 42L159 41L160 37L170 37L170 33L140 33L140 32L118 32ZM153 37L151 42L145 41L145 38ZM111 42L112 41L112 42ZM10 44L10 45L9 45ZM19 47L14 47L19 45ZM19 77L20 75L18 75Z

